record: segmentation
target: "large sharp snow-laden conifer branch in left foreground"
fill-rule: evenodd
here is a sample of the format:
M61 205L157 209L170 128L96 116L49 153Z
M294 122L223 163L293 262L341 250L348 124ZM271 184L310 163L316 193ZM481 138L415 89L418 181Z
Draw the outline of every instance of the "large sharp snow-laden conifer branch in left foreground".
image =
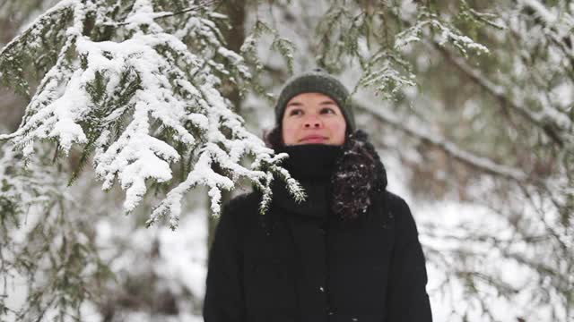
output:
M164 7L156 12L160 4L152 0L116 7L107 0L66 4L59 10L73 11L72 24L57 62L31 98L20 128L0 139L12 139L24 157L31 156L36 140L56 141L64 155L82 145L83 160L93 152L103 188L117 180L126 191L126 212L135 209L150 182L172 182L172 165L187 158L193 165L187 178L155 209L150 225L169 214L175 228L183 193L197 184L209 188L214 214L220 211L221 190L232 189L239 178L262 191L262 211L274 174L303 198L279 166L286 156L265 148L222 96L223 82L238 84L250 76L243 58L224 46L214 22L221 15L197 5L177 16ZM30 28L45 28L42 17ZM23 55L20 51L41 41L41 33L22 44L16 39L9 46L19 50L9 52ZM1 70L9 70L2 59ZM250 167L239 164L246 155L256 158ZM222 174L213 171L215 164Z

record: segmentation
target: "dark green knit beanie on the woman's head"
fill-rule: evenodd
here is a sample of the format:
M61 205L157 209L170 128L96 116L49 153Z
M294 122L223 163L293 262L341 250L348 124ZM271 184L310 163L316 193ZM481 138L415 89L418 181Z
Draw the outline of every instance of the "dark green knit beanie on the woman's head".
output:
M349 91L335 77L318 68L311 72L295 75L287 80L281 94L279 94L277 105L275 105L275 122L277 124L282 123L287 102L301 93L321 93L333 98L341 108L347 123L347 131L355 131L355 118L352 114L352 106L348 101Z

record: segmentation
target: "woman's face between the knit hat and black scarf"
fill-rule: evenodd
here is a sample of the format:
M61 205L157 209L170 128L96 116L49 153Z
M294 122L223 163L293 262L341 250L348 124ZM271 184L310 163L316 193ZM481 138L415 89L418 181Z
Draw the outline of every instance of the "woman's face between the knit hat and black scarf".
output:
M343 145L346 122L335 101L321 93L292 97L283 113L283 143Z

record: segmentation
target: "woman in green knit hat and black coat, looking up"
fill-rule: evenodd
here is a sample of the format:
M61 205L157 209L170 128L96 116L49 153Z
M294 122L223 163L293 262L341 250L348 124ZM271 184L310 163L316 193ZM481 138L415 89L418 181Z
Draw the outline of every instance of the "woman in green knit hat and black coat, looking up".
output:
M347 89L315 70L296 76L275 106L268 141L307 192L294 201L275 181L223 208L210 251L206 322L431 321L413 216L386 191L387 176Z

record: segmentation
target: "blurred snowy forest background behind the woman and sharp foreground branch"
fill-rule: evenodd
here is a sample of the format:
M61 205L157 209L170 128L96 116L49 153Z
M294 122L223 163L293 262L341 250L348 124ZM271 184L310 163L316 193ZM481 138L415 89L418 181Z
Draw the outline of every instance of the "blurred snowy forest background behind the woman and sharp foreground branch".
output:
M0 4L0 41L54 3ZM257 135L274 122L268 93L293 72L319 66L354 89L358 127L376 144L389 189L413 205L436 320L573 318L574 4L204 5L228 17L216 26L251 69L248 87L226 83L221 91ZM30 77L32 88L41 76ZM1 90L8 133L29 97ZM10 144L2 153L0 314L200 319L207 232L216 225L206 191L187 195L171 233L144 225L161 193L119 216L123 192L102 193L91 167L66 188L79 148L54 158L55 146L42 144L25 171Z

